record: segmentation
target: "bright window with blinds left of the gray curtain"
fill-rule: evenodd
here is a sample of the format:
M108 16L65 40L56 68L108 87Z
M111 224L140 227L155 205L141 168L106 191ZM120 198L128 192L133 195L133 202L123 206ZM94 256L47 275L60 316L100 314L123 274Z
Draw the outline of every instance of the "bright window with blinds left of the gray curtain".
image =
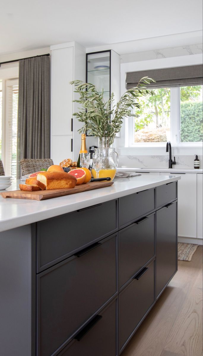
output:
M3 80L0 83L1 157L5 174L16 178L18 79Z

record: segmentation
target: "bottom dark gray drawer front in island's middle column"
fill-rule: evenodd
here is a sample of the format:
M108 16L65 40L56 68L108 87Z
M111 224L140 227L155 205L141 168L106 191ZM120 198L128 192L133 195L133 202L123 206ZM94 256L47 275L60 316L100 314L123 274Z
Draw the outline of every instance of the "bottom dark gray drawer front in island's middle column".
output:
M119 294L119 350L155 301L154 261L147 268Z

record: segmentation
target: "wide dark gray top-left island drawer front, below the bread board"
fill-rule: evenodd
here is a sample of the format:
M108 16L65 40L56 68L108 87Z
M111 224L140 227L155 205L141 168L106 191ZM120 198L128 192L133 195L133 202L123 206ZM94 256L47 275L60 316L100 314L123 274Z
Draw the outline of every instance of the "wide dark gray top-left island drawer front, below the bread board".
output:
M117 200L37 223L37 271L117 229Z

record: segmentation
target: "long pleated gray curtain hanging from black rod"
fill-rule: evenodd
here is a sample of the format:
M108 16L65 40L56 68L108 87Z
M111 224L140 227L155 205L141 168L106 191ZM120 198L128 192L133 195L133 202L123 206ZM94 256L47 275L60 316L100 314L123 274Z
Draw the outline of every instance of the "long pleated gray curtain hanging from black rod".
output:
M50 158L49 56L19 61L17 178L22 158Z

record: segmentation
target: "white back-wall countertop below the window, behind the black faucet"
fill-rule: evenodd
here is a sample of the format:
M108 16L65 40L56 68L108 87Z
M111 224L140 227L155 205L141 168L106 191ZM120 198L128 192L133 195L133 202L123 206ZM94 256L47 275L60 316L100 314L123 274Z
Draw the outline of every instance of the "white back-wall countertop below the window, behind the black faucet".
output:
M175 168L151 168L151 167L135 167L135 168L127 168L127 167L119 167L117 171L121 172L161 172L166 174L177 174L177 173L203 173L203 169L175 169Z

